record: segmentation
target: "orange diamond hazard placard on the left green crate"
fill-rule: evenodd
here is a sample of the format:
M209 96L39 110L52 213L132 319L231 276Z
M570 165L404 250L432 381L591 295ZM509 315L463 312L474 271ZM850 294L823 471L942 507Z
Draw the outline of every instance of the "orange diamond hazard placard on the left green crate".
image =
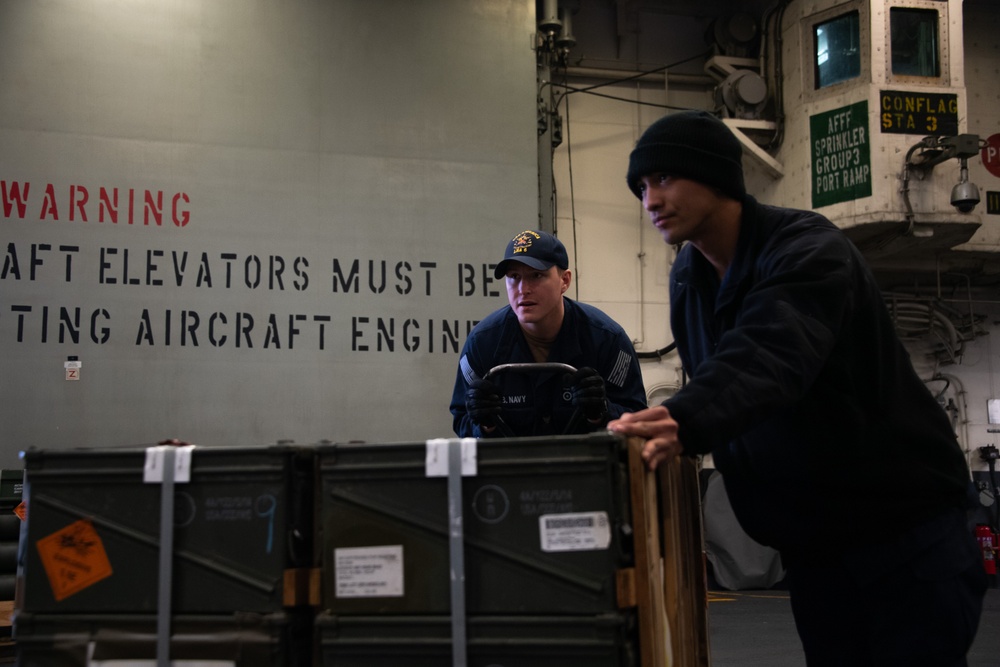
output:
M111 576L100 535L87 519L71 523L35 543L56 600Z

